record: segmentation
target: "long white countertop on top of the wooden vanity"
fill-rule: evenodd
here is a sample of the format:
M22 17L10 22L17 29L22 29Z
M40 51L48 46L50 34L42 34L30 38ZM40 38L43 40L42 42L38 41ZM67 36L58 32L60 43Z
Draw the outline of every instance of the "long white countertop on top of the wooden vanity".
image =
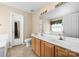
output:
M79 53L79 38L64 37L64 40L59 40L59 36L56 35L41 36L38 34L32 34L31 36Z

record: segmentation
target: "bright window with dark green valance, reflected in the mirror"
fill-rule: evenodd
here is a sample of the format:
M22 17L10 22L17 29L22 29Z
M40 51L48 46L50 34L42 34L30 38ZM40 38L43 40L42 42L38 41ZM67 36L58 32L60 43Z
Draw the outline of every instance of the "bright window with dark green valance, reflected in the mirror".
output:
M52 21L51 22L51 31L52 32L62 32L63 31L62 20Z

